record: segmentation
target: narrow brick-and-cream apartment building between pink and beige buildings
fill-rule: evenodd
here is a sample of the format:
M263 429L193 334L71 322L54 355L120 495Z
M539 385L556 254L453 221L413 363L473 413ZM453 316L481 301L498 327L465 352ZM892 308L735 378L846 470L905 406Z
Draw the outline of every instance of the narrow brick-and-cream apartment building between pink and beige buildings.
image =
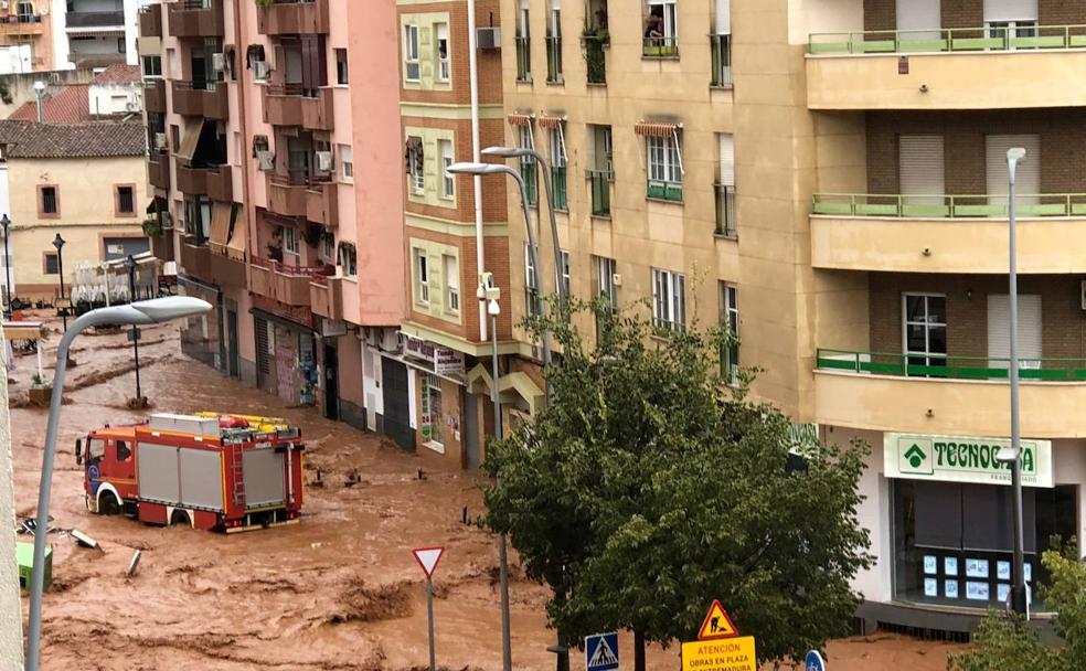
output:
M408 448L477 468L493 433L491 324L478 300L480 273L507 290L498 320L502 373L499 390L533 406L541 381L515 370L511 339L509 241L504 182L449 174L476 151L502 139L501 52L497 0L478 0L475 23L482 33L475 57L478 99L471 96L471 33L466 0L397 0L400 107L403 124L404 225L409 291L400 351L381 360L385 393L405 386L407 406L385 398L388 435ZM475 147L473 124L479 147ZM481 247L480 247L481 243ZM481 309L481 313L480 313ZM507 409L507 412L509 412Z

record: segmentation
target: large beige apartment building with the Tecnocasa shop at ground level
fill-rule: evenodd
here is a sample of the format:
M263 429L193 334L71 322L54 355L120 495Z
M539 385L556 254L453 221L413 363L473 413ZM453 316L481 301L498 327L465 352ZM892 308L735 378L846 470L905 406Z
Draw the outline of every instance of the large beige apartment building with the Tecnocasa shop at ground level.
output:
M966 631L1005 601L992 455L1010 433L1005 155L1025 148L1026 579L1051 535L1084 537L1086 7L502 0L501 17L505 142L555 183L563 262L544 234L543 289L647 300L663 329L730 323L722 365L760 369L756 397L872 446L867 625ZM509 239L515 322L537 287L523 225Z

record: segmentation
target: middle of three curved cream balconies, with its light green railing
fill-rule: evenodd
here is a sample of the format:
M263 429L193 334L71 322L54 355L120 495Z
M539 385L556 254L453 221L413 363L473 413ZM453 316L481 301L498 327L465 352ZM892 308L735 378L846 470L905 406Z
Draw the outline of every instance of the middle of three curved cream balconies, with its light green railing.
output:
M1086 273L1086 194L1020 195L1018 268ZM887 273L1007 273L1007 196L816 194L811 264Z

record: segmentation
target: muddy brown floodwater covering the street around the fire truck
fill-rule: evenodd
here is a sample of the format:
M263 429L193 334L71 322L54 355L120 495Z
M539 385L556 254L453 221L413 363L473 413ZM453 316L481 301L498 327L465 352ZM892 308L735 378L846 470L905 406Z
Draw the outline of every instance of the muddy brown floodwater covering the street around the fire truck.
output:
M46 343L46 361L57 340ZM501 668L494 539L461 523L465 507L470 514L481 510L476 476L224 379L182 355L175 327L163 326L147 329L140 347L141 381L155 409L278 415L301 426L310 482L305 516L296 526L226 536L91 515L75 439L142 414L126 407L134 376L124 334L81 337L73 358L52 514L57 529L79 529L100 550L76 547L63 532L51 535L54 582L44 601L43 669L424 669L425 587L411 550L427 545L448 548L435 576L438 664ZM23 403L33 361L19 358L11 387L20 515L34 512L45 433L45 411ZM318 467L323 487L312 486ZM353 469L362 483L347 487ZM142 558L129 578L136 548ZM513 562L514 668L551 669L546 592L520 579L515 556ZM631 659L632 637L621 638L621 654ZM831 642L829 660L834 671L935 671L945 668L951 649L875 636ZM650 669L678 665L677 649L650 650ZM576 653L573 669L584 669Z

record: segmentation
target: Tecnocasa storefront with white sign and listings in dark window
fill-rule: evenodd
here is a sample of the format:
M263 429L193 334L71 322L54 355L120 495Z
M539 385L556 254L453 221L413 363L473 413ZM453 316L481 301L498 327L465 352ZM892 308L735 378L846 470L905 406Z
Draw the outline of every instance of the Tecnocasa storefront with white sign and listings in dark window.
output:
M1010 467L996 454L1010 441L895 433L883 434L882 441L893 600L1002 607L1013 578L1014 518ZM1023 440L1022 448L1025 579L1032 586L1046 577L1040 558L1051 539L1079 536L1079 473L1064 473L1072 477L1067 483L1055 481L1050 440ZM882 544L872 540L875 548ZM1034 599L1033 609L1043 610L1043 604Z

